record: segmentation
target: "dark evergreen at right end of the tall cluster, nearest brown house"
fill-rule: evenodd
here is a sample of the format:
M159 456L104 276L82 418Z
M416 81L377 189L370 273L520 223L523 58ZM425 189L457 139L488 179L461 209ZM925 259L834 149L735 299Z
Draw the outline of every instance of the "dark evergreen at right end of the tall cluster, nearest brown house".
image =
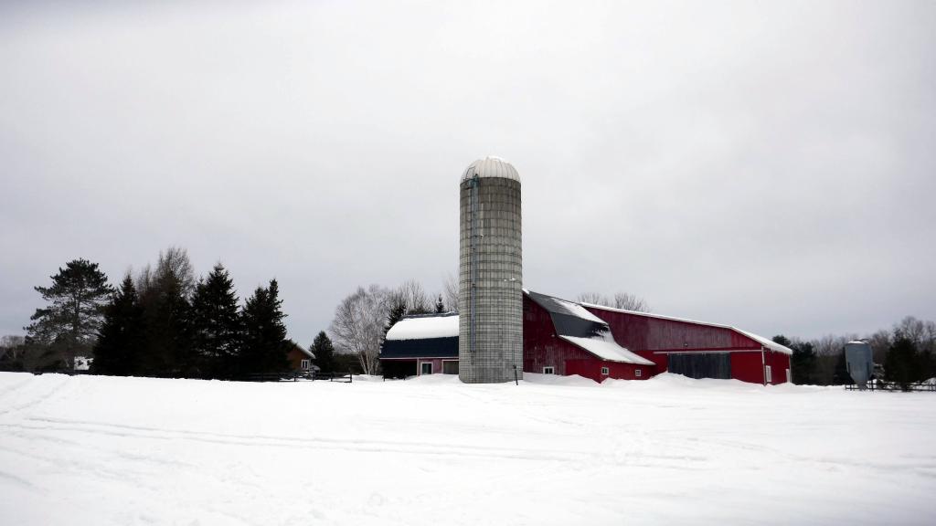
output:
M279 285L271 280L270 286L256 287L243 307L243 341L241 344L240 373L282 373L289 368L286 353L289 343L283 324Z

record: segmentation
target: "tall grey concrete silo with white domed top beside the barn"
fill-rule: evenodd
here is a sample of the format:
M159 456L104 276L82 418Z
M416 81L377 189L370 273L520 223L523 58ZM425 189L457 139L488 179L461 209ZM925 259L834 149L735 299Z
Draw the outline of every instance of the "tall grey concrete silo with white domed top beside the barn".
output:
M459 184L459 377L507 382L523 374L520 178L503 159L465 168Z

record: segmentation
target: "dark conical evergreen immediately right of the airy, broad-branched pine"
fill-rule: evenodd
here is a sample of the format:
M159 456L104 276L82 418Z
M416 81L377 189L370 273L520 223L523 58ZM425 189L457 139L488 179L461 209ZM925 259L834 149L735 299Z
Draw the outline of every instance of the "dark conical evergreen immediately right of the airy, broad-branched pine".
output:
M139 305L137 287L127 274L105 309L91 372L114 376L137 373L139 353L144 344L143 329L143 309Z

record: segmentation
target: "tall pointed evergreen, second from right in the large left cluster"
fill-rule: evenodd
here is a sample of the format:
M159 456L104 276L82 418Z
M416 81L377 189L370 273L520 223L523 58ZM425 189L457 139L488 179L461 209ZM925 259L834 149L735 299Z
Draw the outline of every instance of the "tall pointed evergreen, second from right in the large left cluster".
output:
M192 297L192 346L202 377L230 378L241 345L241 313L234 282L220 263Z

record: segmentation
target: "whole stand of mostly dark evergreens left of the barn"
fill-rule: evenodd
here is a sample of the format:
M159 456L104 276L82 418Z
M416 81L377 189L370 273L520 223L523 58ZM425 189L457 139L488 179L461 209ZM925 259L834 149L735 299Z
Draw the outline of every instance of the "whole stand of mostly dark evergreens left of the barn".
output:
M49 305L33 314L12 356L19 363L7 369L71 370L76 357L91 356L91 373L238 379L285 372L297 345L286 338L275 279L241 306L223 265L196 279L181 248L160 253L154 268L128 272L116 288L85 259L51 280L36 287ZM330 357L330 342L316 343L327 343Z

